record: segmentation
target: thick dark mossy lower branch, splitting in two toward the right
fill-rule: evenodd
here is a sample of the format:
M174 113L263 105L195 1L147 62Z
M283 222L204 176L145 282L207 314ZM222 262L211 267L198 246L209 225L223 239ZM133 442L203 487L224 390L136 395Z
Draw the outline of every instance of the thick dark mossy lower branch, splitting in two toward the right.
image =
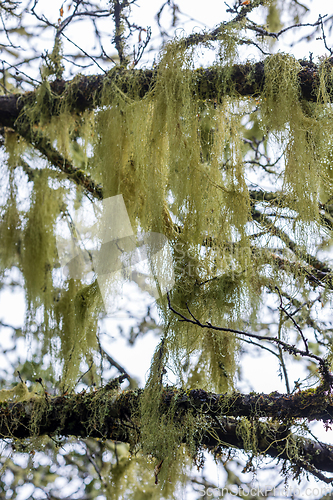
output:
M115 395L102 388L91 393L36 397L18 403L1 403L0 436L2 439L24 439L42 435L61 435L112 439L140 443L140 399L142 390ZM181 391L173 387L162 392L161 409L168 412L176 405L177 418L191 412L198 419L195 442L218 452L235 446L246 451L245 438L239 431L241 420L256 420L256 453L291 460L288 446L297 448L293 466L333 472L333 446L303 439L291 434L285 422L295 418L320 419L331 422L333 401L325 391L306 390L293 395L234 393L213 394L204 390ZM273 418L276 423L259 422L258 417ZM278 422L282 422L279 424ZM186 431L184 431L184 436ZM184 438L185 439L185 438ZM253 451L253 450L252 450Z

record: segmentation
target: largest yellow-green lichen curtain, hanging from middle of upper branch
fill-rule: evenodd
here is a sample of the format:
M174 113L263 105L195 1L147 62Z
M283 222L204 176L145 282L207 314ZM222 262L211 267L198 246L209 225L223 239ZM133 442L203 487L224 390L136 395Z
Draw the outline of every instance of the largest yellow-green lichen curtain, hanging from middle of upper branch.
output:
M234 309L223 307L225 281L218 270L228 268L229 283L233 276L234 288L244 294L241 309L245 312L249 304L243 285L250 282L246 234L250 204L240 123L232 101L214 106L193 99L192 69L191 52L177 41L166 46L155 85L143 100L134 90L124 96L117 83L106 87L97 116L92 172L99 176L106 196L124 196L134 228L139 225L145 231L163 232L186 254L187 263L174 254L174 305L184 308L187 303L200 317L235 326L237 299L232 301ZM203 252L208 239L211 244ZM216 282L200 287L212 279ZM210 287L214 293L209 295ZM205 300L207 293L209 301ZM200 351L205 345L208 373L211 369L215 375L222 374L219 382L212 377L215 387L232 387L234 339L224 340L219 334L213 336L213 342L205 342L195 327L180 327L165 305L163 309L165 321L172 324L169 348L174 354L179 349L186 351L185 346ZM217 352L223 360L217 361Z

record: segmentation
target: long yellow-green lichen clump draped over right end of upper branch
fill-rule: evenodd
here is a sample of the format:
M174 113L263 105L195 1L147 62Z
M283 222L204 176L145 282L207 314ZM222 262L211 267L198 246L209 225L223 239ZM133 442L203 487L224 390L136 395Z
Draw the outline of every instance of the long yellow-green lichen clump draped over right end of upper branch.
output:
M301 222L316 223L323 144L317 133L320 127L317 117L304 113L300 103L300 69L299 62L286 54L278 53L266 59L262 124L264 133L273 132L284 150L284 190L290 208L296 210Z

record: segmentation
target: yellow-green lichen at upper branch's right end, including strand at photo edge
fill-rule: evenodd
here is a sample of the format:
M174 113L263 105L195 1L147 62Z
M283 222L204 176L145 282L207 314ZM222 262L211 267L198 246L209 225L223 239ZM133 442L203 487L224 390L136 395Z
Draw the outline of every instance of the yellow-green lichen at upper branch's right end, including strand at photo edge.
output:
M320 196L325 200L332 195L332 182L325 176L332 149L327 90L330 78L325 69L324 62L319 70L317 102L305 103L300 100L300 64L292 56L280 53L265 61L262 127L264 133L275 135L284 150L283 192L288 196L290 209L297 213L296 234L304 245L318 235ZM323 176L329 181L325 187Z

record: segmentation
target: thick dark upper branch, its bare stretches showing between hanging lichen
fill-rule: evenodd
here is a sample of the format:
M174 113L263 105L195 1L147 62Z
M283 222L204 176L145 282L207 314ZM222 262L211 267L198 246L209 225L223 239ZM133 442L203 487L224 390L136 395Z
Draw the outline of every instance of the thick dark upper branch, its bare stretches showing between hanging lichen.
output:
M329 60L330 64L332 61ZM301 97L308 101L315 101L316 88L319 83L318 67L310 62L300 61L302 66L299 72ZM237 64L228 76L223 70L216 67L200 68L194 71L194 93L198 99L217 99L221 92L237 93L242 96L258 96L262 91L265 79L265 62L254 64ZM70 82L55 80L51 83L52 92L67 99L67 110L70 113L80 113L93 109L100 103L103 85L116 83L122 92L128 93L135 79L135 92L139 97L153 87L156 71L152 70L124 70L113 69L105 76L81 76ZM227 81L226 81L227 79ZM329 91L331 89L328 89ZM10 94L0 96L0 126L15 129L15 122L22 113L24 106L34 99L34 93ZM59 113L56 107L50 110Z

